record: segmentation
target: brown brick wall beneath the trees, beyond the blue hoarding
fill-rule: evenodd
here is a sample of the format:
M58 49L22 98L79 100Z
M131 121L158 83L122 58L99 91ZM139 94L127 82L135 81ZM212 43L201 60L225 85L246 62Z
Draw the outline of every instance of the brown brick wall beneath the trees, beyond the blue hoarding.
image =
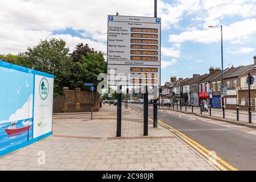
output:
M79 113L91 111L91 91L68 90L63 88L64 96L54 97L54 113ZM100 95L94 91L94 111L99 110Z

